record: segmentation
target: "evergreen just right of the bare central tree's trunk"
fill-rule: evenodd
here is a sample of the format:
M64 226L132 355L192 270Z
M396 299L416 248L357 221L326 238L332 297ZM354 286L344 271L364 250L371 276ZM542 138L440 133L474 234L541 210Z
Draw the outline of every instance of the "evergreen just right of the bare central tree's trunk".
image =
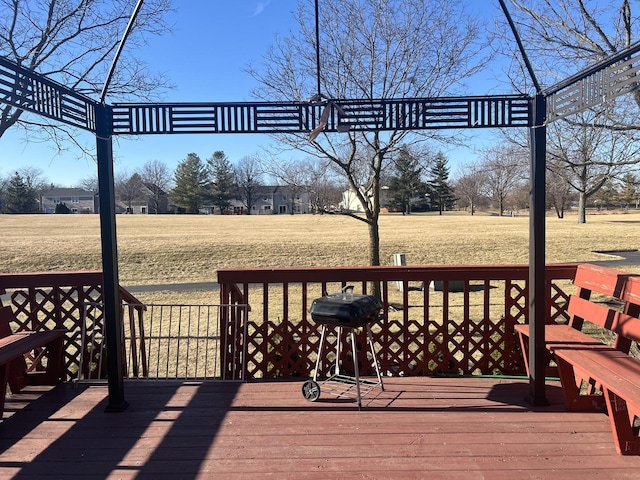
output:
M403 213L411 213L412 199L415 201L426 190L421 178L422 166L406 145L400 147L393 166L394 176L389 182L390 201L393 205L399 206Z

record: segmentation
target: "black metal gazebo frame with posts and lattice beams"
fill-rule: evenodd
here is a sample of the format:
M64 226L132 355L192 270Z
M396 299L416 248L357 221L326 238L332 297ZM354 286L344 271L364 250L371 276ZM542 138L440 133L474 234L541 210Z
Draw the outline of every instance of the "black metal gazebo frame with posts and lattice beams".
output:
M109 401L124 398L119 324L119 276L113 175L114 135L308 133L329 108L324 131L529 128L529 401L545 395L545 169L546 125L638 88L640 44L566 80L527 95L413 99L321 99L315 102L115 103L108 105L0 56L0 102L95 134L100 191L103 300Z

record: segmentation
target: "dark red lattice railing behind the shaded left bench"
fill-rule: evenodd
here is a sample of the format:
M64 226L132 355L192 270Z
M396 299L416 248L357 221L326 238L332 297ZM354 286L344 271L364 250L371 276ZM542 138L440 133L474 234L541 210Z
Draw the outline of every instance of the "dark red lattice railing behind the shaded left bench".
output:
M82 320L87 304L102 302L102 273L83 272L40 272L40 273L4 273L0 274L0 305L11 306L16 317L12 330L67 330L64 349L64 367L67 380L78 377L81 364L90 365L93 360L90 352L83 351ZM122 304L122 328L129 347L124 349L123 358L136 358L137 352L129 351L143 347L143 312L145 306L120 288ZM126 321L124 321L126 320ZM102 324L102 315L92 318L92 322ZM142 342L142 343L141 343ZM96 346L93 346L94 350ZM84 355L84 362L83 360ZM105 362L106 365L106 362ZM136 363L136 368L143 368ZM129 369L126 368L125 371ZM105 372L106 373L106 372ZM134 372L146 374L146 372Z

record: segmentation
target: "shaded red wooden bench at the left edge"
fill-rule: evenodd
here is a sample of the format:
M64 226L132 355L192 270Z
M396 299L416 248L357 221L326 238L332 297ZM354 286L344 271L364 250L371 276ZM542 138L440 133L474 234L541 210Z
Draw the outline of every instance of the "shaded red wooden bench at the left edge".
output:
M63 375L64 330L12 333L10 307L0 307L0 418L7 386L18 393L26 385L55 385ZM25 360L29 355L29 365ZM46 363L45 363L46 359Z

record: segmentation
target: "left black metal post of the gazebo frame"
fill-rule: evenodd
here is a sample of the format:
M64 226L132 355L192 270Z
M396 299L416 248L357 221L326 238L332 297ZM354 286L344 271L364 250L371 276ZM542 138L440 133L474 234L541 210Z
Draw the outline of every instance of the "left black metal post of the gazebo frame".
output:
M113 114L111 107L96 105L96 154L100 191L100 236L102 240L102 302L107 341L109 403L107 412L121 412L129 405L124 399L122 372L122 330L118 249L116 240L115 192L113 181Z

